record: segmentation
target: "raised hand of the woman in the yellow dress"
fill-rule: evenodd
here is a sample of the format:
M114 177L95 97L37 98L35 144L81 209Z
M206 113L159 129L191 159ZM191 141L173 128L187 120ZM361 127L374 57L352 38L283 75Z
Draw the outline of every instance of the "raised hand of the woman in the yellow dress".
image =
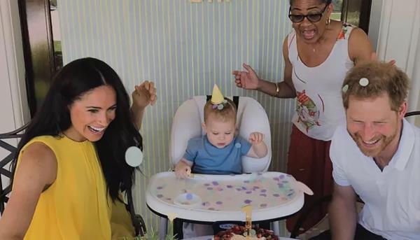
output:
M134 86L132 98L133 108L135 109L146 108L148 104L153 106L157 99L155 83L146 80L140 85Z

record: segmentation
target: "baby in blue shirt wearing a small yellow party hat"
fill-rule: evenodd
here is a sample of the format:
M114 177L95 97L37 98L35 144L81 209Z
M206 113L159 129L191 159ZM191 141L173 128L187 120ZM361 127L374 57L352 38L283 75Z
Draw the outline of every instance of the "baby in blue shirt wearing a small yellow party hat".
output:
M241 156L267 155L264 134L252 132L248 140L235 136L237 108L225 99L217 85L204 106L203 136L190 139L186 153L176 164L175 174L187 178L191 169L197 174L242 174Z

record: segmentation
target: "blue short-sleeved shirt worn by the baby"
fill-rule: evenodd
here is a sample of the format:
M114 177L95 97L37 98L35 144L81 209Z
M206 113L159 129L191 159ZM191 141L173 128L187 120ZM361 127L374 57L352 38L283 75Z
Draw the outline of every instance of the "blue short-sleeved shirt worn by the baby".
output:
M188 141L183 157L193 162L192 171L197 174L242 174L241 156L246 155L251 143L235 136L224 148L209 142L207 134Z

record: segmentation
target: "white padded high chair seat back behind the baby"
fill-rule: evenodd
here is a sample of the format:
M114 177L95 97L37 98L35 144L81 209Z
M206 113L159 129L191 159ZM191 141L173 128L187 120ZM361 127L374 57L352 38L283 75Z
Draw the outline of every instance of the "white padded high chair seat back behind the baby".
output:
M172 122L171 139L169 143L169 159L174 167L183 157L188 140L204 134L204 105L210 96L196 96L183 102L176 110ZM264 108L251 97L229 97L237 104L237 134L248 139L251 132L261 132L265 135L268 153L261 159L242 157L244 173L267 171L272 157L271 132L267 113ZM160 218L160 236L165 236L167 220Z

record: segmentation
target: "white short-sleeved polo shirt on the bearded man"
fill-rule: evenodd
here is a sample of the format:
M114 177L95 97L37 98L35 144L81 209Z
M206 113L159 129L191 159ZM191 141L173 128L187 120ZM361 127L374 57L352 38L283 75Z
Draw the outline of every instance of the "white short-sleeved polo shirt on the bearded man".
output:
M420 129L403 120L398 150L381 171L339 126L330 147L335 183L365 202L358 223L386 239L420 239Z

